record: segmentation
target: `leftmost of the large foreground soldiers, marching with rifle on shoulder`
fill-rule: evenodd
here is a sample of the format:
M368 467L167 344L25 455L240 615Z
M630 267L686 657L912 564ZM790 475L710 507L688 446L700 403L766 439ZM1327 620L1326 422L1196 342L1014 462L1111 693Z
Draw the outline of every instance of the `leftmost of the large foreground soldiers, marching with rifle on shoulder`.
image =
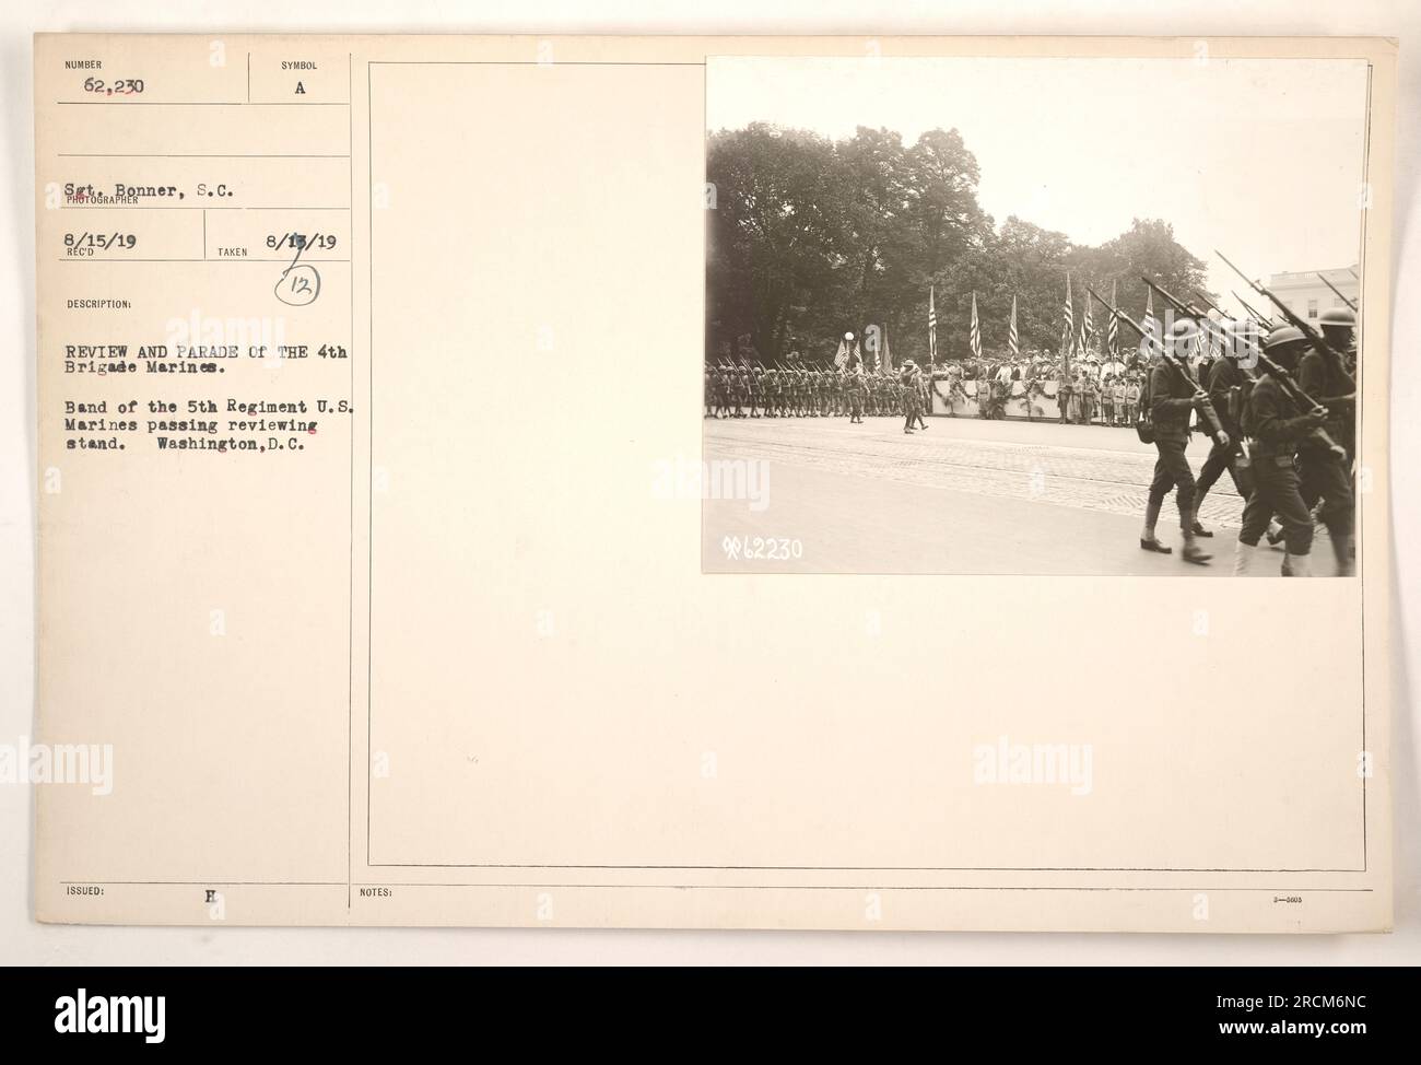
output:
M1194 330L1192 321L1181 319L1174 324L1171 336L1164 338L1162 343L1169 344L1169 350L1175 353L1175 360L1184 360ZM1161 358L1150 374L1150 415L1154 421L1155 449L1160 458L1155 461L1154 479L1150 482L1140 547L1160 555L1171 553L1171 549L1155 536L1155 522L1160 519L1164 498L1172 488L1179 506L1179 532L1184 536L1179 557L1202 566L1214 556L1194 539L1194 471L1189 469L1184 449L1189 442L1189 412L1199 410L1202 414L1211 404L1208 392L1191 385L1177 368L1175 360Z

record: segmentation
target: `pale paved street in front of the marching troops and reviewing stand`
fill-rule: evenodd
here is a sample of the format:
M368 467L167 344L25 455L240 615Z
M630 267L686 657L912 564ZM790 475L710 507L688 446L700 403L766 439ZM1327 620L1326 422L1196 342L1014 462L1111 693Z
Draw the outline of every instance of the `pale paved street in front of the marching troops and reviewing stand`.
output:
M1172 493L1158 533L1175 555L1140 550L1155 449L1133 429L944 417L928 425L908 437L901 418L706 419L706 462L767 462L769 491L759 510L743 499L705 502L705 569L1192 577L1232 570L1243 503L1226 473L1201 515L1216 530L1201 540L1215 559L1192 566L1178 556ZM1208 442L1196 437L1195 472L1206 454ZM1317 557L1330 572L1327 553ZM1260 553L1255 576L1276 574L1280 560L1280 552Z

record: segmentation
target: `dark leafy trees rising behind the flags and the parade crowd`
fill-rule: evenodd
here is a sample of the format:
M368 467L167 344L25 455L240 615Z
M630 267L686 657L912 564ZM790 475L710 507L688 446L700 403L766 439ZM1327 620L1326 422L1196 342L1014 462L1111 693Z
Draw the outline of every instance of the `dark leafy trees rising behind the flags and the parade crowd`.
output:
M938 358L969 354L976 293L982 343L1006 348L1012 296L1022 350L1061 340L1066 274L1077 324L1086 284L1144 313L1150 274L1181 299L1205 286L1205 264L1169 223L1135 219L1091 247L1015 215L998 225L978 203L980 172L956 129L904 145L891 129L860 127L831 141L756 122L710 135L706 351L773 363L791 350L818 358L870 324L888 331L895 360L928 357L928 289L938 313ZM1157 307L1162 314L1164 309ZM1106 313L1096 307L1096 328ZM1121 346L1133 347L1128 328Z

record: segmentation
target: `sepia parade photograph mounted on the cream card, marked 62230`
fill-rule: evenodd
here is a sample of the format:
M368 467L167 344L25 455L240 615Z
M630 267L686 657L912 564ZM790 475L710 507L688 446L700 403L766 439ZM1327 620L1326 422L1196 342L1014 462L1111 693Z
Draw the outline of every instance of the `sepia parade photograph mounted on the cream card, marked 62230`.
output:
M706 70L706 572L1357 573L1368 68Z

